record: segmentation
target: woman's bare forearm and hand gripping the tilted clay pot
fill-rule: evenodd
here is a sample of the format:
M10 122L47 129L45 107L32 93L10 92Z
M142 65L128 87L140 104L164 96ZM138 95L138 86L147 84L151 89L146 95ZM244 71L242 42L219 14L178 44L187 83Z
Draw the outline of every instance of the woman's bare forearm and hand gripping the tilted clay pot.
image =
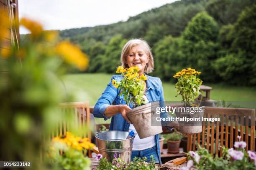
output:
M131 123L129 118L127 117L127 111L131 110L128 105L110 105L106 108L104 114L108 117L121 113L123 118L127 120L128 123Z

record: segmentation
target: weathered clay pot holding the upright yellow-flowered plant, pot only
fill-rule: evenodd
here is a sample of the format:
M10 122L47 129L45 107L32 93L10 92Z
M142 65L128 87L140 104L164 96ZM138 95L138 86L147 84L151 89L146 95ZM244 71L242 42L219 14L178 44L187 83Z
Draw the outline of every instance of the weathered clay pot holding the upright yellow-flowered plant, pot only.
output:
M189 113L189 112L176 112L177 117L179 118L200 118L200 121L189 121L186 120L178 120L179 122L179 128L180 133L200 133L202 132L202 117L205 112L205 107L202 107L202 112L195 112L195 113Z

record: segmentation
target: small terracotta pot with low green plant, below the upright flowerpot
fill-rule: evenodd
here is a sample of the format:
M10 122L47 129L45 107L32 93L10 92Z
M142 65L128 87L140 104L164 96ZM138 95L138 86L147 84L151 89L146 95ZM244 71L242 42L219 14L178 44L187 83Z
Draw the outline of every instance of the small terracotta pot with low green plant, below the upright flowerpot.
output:
M169 153L179 153L179 144L182 135L179 133L172 133L169 135L169 139L167 140L167 147Z

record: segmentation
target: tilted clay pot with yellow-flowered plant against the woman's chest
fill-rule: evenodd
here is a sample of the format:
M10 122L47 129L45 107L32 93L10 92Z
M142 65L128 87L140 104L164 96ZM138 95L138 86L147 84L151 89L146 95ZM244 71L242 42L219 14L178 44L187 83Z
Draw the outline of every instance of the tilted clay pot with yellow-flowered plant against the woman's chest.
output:
M113 80L112 83L115 88L120 88L119 95L124 96L127 105L131 104L133 106L133 109L127 112L127 116L142 139L162 133L163 130L161 126L151 126L151 117L156 120L155 117L158 115L151 109L151 103L148 103L148 100L144 97L147 77L145 75L139 76L138 71L138 67L127 69L118 67L116 72L123 76L123 80L120 82Z

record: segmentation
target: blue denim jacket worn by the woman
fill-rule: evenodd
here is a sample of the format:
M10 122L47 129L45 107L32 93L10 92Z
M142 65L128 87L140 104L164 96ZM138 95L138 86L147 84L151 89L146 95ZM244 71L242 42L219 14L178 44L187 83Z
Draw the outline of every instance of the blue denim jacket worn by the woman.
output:
M164 92L163 92L163 86L160 78L158 77L151 77L147 76L146 84L147 84L147 90L146 90L146 97L148 98L149 102L160 102L160 107L164 107ZM111 77L111 81L108 84L105 91L102 93L101 97L97 101L97 103L94 106L93 109L93 115L94 117L102 117L104 120L108 120L110 117L107 117L104 112L106 108L109 105L126 105L127 102L124 100L123 96L119 96L120 89L115 88L112 85L112 80L116 80L119 82L123 79L122 75L114 75ZM132 108L132 105L129 104L129 107ZM167 117L166 112L161 113L161 117ZM164 122L165 124L162 125L166 126L169 122ZM111 118L110 127L109 130L123 130L128 131L130 127L130 124L123 118L123 116L118 113ZM171 127L167 127L169 130L171 130ZM157 153L159 157L159 161L161 162L161 153L160 153L160 147L159 147L159 134L155 135L156 138L156 146L157 146Z

